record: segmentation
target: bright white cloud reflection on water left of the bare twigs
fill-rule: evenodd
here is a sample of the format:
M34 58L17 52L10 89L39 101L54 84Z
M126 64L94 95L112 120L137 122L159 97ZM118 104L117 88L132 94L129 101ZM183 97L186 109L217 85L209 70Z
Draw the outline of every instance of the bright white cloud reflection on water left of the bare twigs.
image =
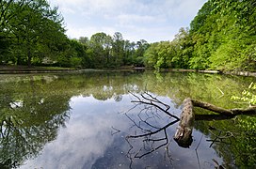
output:
M72 98L73 115L67 127L58 132L56 141L44 147L38 159L27 161L24 168L90 168L112 145L111 126L126 128L116 114L119 107L112 108L114 104L115 100Z

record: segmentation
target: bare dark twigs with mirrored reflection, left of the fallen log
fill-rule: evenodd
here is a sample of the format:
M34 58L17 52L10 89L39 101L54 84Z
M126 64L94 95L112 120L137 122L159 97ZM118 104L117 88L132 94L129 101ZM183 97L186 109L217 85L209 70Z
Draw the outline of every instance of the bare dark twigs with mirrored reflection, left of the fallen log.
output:
M133 123L131 128L135 129L134 135L126 137L130 146L127 156L131 160L131 165L134 158L140 159L163 146L168 150L168 127L179 121L176 115L169 112L168 104L153 97L152 94L145 92L141 95L132 95L136 98L132 100L136 105L125 113ZM138 113L132 114L132 111Z

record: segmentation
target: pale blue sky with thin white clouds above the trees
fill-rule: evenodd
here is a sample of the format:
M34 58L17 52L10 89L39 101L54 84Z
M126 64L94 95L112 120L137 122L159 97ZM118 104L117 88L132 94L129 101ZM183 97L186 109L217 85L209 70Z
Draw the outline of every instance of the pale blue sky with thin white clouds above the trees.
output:
M207 0L49 0L64 17L69 38L120 32L124 39L172 40Z

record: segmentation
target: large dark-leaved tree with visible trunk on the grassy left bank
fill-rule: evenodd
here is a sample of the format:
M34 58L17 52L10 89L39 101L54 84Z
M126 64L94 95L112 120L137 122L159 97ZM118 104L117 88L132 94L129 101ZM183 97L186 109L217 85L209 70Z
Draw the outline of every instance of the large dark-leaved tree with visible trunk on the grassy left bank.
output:
M57 13L57 8L51 9L44 0L33 1L25 6L23 12L14 19L11 24L19 45L15 45L15 48L21 47L25 52L24 59L28 67L32 59L39 58L44 48L52 48L56 39L65 38L62 17ZM42 45L41 51L39 45Z

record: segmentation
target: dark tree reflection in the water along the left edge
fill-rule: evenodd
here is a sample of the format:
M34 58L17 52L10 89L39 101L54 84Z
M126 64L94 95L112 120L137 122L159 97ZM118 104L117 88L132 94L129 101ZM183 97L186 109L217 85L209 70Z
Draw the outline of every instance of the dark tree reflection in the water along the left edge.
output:
M56 139L57 130L69 118L69 96L50 92L43 81L30 79L1 84L0 166L15 167L37 156ZM44 92L43 90L47 90Z

